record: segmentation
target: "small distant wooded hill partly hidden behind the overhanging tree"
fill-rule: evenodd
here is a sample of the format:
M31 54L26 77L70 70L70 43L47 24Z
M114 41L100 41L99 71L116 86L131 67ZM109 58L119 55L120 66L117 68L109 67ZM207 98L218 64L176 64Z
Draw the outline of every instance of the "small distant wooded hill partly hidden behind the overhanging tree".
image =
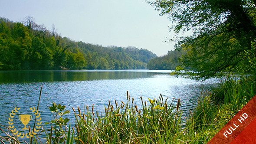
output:
M148 69L168 69L175 70L177 66L181 66L182 63L179 61L182 55L186 55L187 52L182 50L171 50L168 51L167 55L161 57L155 57L148 62ZM190 69L185 67L185 69Z

